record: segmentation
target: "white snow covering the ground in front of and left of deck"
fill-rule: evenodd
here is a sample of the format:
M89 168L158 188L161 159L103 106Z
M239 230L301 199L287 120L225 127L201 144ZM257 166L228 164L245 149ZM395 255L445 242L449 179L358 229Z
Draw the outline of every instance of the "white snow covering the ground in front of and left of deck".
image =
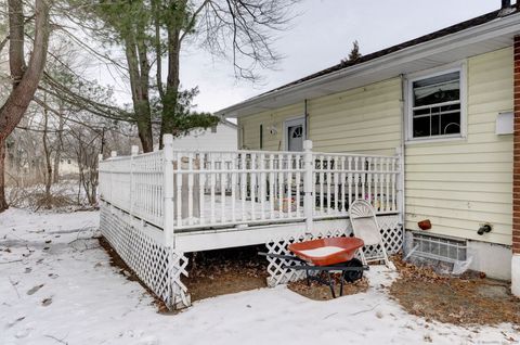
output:
M95 212L0 214L0 344L507 344L510 324L460 328L404 312L370 268L366 293L329 302L285 286L205 299L159 315L92 235ZM49 242L50 241L50 242ZM8 250L9 248L9 250ZM8 251L5 251L8 250ZM10 251L10 252L9 252Z

